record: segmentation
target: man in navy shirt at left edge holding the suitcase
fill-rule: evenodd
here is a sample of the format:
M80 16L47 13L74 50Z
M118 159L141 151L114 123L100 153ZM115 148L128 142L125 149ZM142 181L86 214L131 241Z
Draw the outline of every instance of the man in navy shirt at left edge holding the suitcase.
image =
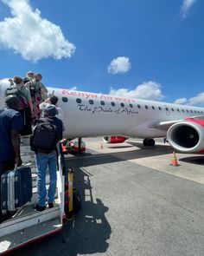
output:
M6 171L22 165L20 155L20 130L22 130L22 117L17 111L19 100L16 96L10 95L5 98L5 108L0 108L0 177ZM1 182L0 182L1 191ZM0 194L1 201L1 194ZM0 210L0 223L6 220Z

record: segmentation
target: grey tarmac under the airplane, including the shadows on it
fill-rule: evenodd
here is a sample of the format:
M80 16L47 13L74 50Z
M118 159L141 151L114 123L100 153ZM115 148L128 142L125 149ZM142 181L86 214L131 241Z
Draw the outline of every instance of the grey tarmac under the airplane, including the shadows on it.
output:
M84 141L86 153L67 154L80 213L13 255L204 255L204 156L175 153L174 167L162 140L153 148L136 139Z

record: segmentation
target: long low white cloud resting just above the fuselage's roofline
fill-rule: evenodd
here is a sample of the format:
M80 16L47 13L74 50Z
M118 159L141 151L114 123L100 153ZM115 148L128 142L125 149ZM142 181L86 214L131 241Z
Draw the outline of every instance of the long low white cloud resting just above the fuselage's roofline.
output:
M111 88L109 94L146 100L160 100L163 98L161 84L152 81L143 82L142 84L139 84L134 90Z

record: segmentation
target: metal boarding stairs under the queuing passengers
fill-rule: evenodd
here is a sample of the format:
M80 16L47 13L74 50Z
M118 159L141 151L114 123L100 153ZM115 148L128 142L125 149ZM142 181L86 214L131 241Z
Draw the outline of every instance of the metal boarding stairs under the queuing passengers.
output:
M35 153L30 151L29 137L21 142L22 166L31 167L33 195L31 201L22 207L9 220L0 224L0 255L13 248L40 239L48 234L61 230L64 218L64 176L62 175L61 157L59 156L59 170L57 172L57 189L53 208L46 208L42 212L35 211L37 200ZM48 190L49 175L46 175Z

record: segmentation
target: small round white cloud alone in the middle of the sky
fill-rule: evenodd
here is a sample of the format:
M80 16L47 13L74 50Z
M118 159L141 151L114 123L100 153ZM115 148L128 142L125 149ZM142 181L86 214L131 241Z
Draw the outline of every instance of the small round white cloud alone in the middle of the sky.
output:
M128 57L120 56L113 59L108 65L108 72L111 74L126 73L131 69L131 62Z

